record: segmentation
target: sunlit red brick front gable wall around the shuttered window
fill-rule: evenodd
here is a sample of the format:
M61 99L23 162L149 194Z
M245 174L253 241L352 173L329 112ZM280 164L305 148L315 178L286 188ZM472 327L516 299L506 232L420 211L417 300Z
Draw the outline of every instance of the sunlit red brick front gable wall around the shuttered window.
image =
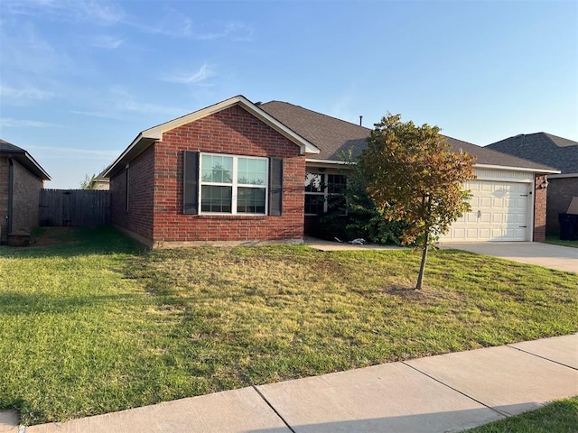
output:
M283 158L283 215L183 215L183 151ZM239 106L164 133L154 146L154 243L303 238L305 157L299 152L299 146Z

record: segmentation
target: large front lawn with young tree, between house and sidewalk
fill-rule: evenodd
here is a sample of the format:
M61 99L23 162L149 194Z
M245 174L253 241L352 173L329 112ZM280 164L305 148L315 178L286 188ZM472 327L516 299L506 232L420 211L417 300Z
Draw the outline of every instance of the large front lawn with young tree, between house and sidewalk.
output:
M0 409L28 425L578 331L578 275L472 253L416 292L411 251L52 237L0 247Z

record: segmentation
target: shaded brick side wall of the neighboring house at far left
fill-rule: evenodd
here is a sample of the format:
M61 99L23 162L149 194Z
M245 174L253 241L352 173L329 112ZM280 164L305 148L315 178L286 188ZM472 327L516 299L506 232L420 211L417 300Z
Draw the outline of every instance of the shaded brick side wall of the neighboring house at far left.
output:
M14 160L13 232L39 226L40 190L43 184L42 179Z

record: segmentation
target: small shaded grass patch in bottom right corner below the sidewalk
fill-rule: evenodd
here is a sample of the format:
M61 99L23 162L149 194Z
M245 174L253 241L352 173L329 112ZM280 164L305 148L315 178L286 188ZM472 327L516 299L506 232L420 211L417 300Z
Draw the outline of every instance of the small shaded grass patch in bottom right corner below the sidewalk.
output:
M554 401L538 410L500 419L468 433L577 433L578 397Z

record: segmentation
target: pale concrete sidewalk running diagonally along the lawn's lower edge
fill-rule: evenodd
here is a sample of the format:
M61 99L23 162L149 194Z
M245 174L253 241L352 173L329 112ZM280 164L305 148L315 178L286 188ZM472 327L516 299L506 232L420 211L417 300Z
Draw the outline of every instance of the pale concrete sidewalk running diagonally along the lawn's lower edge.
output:
M6 426L5 431L456 432L573 395L578 395L578 334L218 392L64 423Z

